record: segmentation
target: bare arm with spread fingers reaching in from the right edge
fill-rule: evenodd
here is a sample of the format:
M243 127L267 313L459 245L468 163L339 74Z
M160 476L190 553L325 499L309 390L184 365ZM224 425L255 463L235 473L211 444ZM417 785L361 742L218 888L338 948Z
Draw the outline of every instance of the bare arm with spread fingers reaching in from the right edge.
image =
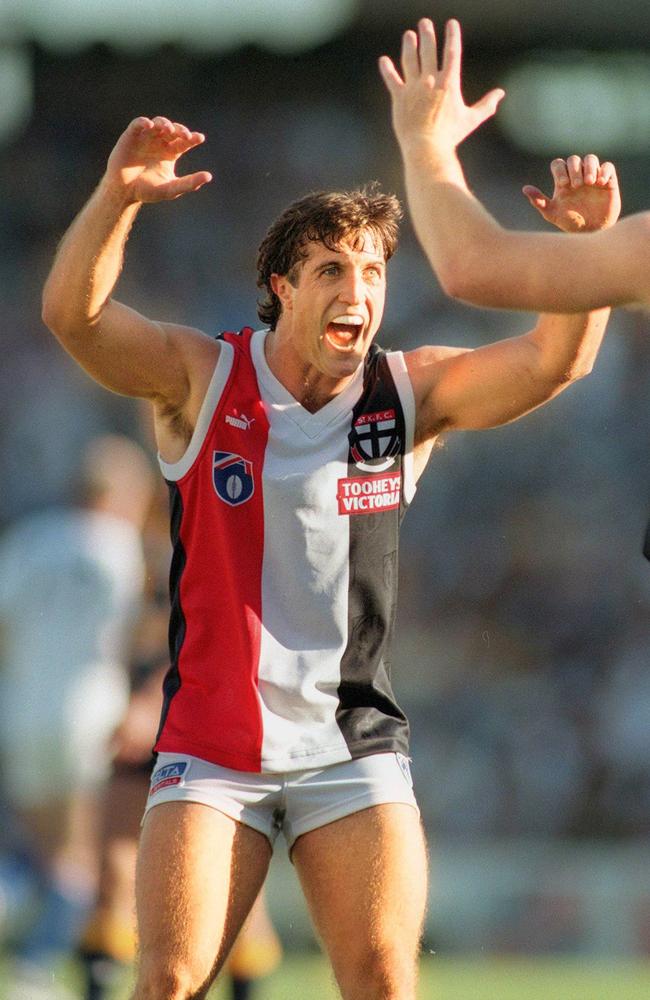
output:
M499 226L469 191L456 149L495 113L504 92L465 104L457 21L447 24L440 67L432 22L407 31L401 70L382 56L411 218L448 294L546 312L650 302L649 213L588 236L515 232ZM597 183L606 186L606 173Z

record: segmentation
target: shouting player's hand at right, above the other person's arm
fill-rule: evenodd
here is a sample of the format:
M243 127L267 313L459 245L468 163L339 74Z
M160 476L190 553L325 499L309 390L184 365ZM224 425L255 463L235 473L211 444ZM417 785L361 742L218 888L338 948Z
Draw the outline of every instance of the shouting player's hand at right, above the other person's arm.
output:
M547 222L567 233L591 232L613 226L621 211L621 195L613 163L600 163L590 153L551 163L552 197L527 184L528 201Z

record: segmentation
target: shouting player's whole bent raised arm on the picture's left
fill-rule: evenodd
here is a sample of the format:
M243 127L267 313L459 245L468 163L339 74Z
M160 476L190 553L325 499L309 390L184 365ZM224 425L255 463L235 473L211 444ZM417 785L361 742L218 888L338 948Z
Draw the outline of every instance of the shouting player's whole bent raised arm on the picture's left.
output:
M97 190L65 234L43 292L45 324L93 378L170 411L183 408L191 366L211 341L198 331L149 320L112 293L141 206L178 198L211 179L205 171L176 176L178 159L203 138L165 118L131 122Z

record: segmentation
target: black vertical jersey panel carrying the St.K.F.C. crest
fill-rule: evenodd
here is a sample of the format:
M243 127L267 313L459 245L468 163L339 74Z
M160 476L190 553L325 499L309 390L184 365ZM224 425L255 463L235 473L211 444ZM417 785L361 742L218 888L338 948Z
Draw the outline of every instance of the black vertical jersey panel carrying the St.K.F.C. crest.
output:
M376 432L365 431L366 454L393 456L386 475L402 472L405 450L404 413L385 352L373 344L365 360L363 392L352 412L348 476L368 476L358 467L356 422L363 414L395 413L391 439L377 446ZM377 461L381 461L378 456ZM368 463L372 466L374 458ZM366 463L364 463L366 464ZM348 644L341 658L336 721L353 757L399 751L408 754L406 716L395 702L390 683L390 643L397 608L397 557L403 486L399 508L350 515L350 583Z

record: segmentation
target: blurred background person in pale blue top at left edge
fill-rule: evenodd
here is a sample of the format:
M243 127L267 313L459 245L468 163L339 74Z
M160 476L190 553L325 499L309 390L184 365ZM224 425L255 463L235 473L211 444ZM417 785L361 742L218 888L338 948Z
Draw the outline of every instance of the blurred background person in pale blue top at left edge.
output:
M54 995L94 892L98 795L128 698L153 491L142 449L94 439L74 503L19 520L0 548L3 789L36 899L14 944L16 997Z

